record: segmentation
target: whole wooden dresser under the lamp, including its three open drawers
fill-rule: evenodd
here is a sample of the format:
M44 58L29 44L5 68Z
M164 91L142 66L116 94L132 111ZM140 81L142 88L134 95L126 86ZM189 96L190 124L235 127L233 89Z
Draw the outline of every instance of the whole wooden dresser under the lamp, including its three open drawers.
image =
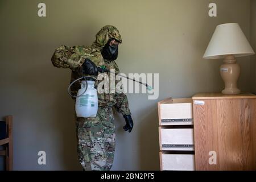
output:
M254 94L168 98L158 113L161 170L256 170Z

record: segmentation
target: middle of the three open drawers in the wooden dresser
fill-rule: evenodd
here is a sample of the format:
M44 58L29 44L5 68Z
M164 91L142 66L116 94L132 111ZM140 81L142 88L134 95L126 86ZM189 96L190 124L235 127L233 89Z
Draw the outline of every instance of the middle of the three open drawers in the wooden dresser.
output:
M160 150L193 151L193 129L164 129L159 127Z

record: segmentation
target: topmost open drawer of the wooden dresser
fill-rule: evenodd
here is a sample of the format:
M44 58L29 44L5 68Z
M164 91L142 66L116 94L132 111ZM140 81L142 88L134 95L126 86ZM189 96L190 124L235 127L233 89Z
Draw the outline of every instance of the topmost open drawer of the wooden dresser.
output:
M192 98L169 98L158 102L159 125L193 125Z

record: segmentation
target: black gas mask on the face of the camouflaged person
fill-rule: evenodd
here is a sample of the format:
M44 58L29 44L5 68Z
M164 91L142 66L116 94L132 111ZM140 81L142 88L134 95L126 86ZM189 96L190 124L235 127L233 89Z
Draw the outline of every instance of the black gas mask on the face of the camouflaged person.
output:
M113 44L112 46L110 46L109 44L112 40L113 39L110 39L101 51L101 55L103 56L103 58L109 61L116 60L118 56L118 45Z

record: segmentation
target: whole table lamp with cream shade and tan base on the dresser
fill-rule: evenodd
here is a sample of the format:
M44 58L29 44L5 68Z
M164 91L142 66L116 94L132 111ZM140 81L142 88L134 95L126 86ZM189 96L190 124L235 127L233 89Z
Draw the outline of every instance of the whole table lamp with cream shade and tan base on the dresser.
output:
M250 55L254 55L253 48L238 23L220 24L216 27L204 59L224 59L224 64L220 67L220 74L225 82L222 94L241 93L237 88L241 68L235 57Z

